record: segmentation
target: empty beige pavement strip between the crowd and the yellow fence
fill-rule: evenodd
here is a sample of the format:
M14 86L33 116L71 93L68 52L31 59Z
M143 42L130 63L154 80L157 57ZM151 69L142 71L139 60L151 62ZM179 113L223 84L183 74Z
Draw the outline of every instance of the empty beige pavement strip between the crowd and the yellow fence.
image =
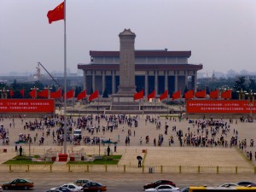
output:
M6 146L7 153L0 153L0 164L6 160L12 159L17 155L15 148ZM32 146L31 154L44 154L47 148L56 148L55 146ZM68 147L67 151L79 150L84 148L86 154L104 154L107 146L76 146ZM111 148L113 148L111 146ZM23 146L26 154L29 154L28 146ZM58 147L57 149L61 149ZM143 153L147 150L147 154ZM189 147L146 147L146 146L119 146L117 153L121 154L119 165L137 166L137 156L140 155L145 160L144 166L239 166L253 171L253 165L237 153L235 148L189 148Z

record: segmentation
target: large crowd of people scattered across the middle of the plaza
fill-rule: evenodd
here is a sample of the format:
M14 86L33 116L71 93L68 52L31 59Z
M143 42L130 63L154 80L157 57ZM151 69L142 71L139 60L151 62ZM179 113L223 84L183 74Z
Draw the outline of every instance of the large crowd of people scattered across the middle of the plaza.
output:
M50 141L52 145L63 145L65 141L65 129L67 129L67 142L70 145L98 145L106 141L131 145L134 144L148 146L180 146L180 147L222 147L232 148L236 146L247 154L248 159L253 159L253 152L248 150L247 139L242 138L239 131L233 126L233 119L224 120L213 118L202 119L182 119L186 121L186 127L181 127L177 118L160 118L157 115L146 115L144 124L137 115L84 115L78 118L61 115L55 117L42 118L22 118L19 119L23 133L19 132L18 141L35 145L44 145L45 141ZM1 120L8 120L1 118ZM4 144L9 144L10 129L18 129L14 118L9 118L9 128L0 126L0 139ZM241 118L240 123L244 120ZM236 119L236 125L238 124ZM15 126L16 125L16 126ZM137 136L136 131L145 128L143 135ZM162 128L164 127L164 128ZM171 131L169 131L172 127ZM79 129L82 134L74 136L73 131ZM154 131L153 131L154 129ZM151 132L151 134L148 134ZM49 138L52 139L49 140ZM253 137L249 140L249 148L253 148ZM16 141L12 141L16 142ZM49 143L48 143L49 144ZM256 155L256 153L255 153ZM256 158L256 156L255 156Z

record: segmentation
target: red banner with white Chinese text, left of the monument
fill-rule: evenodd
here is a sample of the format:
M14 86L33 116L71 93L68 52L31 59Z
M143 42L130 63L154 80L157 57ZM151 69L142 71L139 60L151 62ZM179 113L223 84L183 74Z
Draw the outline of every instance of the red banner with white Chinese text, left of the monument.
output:
M1 99L0 113L54 113L53 99Z

